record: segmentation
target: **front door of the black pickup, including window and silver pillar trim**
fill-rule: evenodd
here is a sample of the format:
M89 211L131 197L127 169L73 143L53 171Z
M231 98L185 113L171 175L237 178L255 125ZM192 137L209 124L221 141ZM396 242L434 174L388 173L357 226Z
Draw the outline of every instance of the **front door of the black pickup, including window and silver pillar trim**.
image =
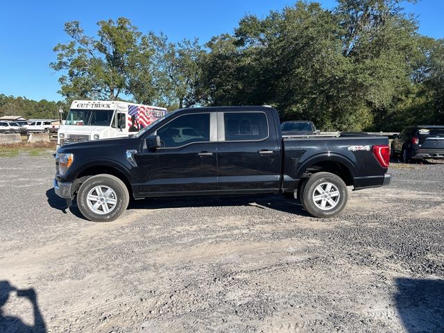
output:
M211 126L212 124L212 126ZM182 114L157 129L162 147L136 156L146 196L217 189L216 112Z

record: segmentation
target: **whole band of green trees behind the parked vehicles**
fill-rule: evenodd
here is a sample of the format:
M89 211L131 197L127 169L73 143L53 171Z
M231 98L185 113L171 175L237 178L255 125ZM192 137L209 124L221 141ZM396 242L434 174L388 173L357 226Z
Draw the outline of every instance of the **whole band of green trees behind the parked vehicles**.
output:
M142 33L124 17L99 22L96 36L67 22L69 42L54 48L51 68L66 103L266 104L322 130L444 123L444 40L420 35L403 2L339 0L327 10L298 1L246 15L205 44Z

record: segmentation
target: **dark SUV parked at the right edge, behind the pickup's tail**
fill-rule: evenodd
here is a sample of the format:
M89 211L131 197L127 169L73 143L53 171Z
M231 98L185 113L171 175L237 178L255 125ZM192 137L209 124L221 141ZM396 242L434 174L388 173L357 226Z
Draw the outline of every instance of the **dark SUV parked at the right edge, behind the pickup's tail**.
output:
M412 159L444 159L444 126L411 126L404 128L391 143L391 155L402 162Z

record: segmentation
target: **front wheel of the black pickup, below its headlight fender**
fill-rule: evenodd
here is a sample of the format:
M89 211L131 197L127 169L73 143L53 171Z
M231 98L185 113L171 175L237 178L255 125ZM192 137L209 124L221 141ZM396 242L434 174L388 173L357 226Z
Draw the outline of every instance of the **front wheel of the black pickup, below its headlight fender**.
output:
M101 196L98 191L103 192L104 189L106 192ZM106 196L108 189L111 189L111 191ZM88 194L98 198L98 200L88 200ZM109 203L107 200L109 200ZM77 192L78 209L85 218L93 222L114 221L126 210L129 200L130 195L126 185L119 178L107 174L88 178L80 185ZM97 207L96 203L98 204ZM94 209L94 207L96 208ZM106 212L105 210L110 211Z

